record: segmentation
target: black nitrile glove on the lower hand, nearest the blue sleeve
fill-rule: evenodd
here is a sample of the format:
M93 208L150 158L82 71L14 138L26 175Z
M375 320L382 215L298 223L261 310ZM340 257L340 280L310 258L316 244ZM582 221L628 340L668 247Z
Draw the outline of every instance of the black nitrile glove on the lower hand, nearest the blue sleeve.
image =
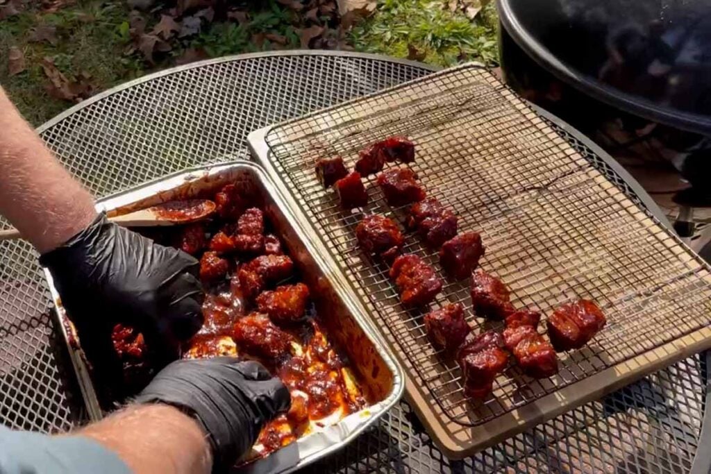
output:
M208 433L213 471L235 464L257 441L264 423L289 409L289 389L257 362L235 357L177 360L134 400L186 409Z

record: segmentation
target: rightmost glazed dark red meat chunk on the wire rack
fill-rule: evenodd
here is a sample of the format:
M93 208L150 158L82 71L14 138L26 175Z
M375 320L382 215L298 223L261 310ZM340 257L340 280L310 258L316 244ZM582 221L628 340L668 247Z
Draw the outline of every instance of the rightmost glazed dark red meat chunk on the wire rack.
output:
M584 299L557 308L546 321L557 352L582 348L606 322L599 306Z

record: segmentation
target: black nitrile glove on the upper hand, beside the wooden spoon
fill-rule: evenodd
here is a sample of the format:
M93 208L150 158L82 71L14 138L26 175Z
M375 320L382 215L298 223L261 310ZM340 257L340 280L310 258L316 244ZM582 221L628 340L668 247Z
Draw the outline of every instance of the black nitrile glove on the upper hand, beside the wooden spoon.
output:
M104 215L61 247L40 257L92 362L112 355L117 323L143 333L160 364L176 359L179 343L203 323L198 261L119 227Z

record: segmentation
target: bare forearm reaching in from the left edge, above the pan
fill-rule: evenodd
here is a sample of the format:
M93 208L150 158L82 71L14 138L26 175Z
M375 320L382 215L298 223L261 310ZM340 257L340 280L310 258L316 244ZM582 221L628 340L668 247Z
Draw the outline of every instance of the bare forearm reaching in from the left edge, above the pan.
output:
M96 217L90 193L54 158L1 87L0 215L41 253Z

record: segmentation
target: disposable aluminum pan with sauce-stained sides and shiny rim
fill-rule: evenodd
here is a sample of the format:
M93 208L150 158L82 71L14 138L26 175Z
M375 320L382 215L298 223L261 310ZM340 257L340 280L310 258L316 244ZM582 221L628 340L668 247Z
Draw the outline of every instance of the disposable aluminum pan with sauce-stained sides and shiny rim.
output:
M328 316L321 318L328 339L348 355L349 365L369 401L368 406L336 424L299 438L286 448L243 468L255 472L289 472L345 446L390 409L400 399L405 387L402 369L390 350L374 335L362 307L336 283L333 272L337 270L324 259L326 250L307 237L309 228L299 225L286 210L282 198L260 166L233 161L220 166L192 168L102 199L97 203L97 209L109 216L120 215L169 200L200 195L226 183L237 183L252 202L264 210L311 289L316 311L321 315L328 311ZM100 419L105 413L100 408L80 340L69 323L52 277L48 271L45 274L88 414L92 420Z

